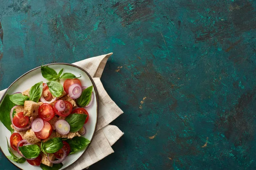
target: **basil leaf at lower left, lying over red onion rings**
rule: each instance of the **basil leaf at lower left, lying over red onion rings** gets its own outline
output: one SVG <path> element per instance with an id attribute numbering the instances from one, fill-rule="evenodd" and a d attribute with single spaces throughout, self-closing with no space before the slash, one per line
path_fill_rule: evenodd
<path id="1" fill-rule="evenodd" d="M 41 150 L 36 144 L 30 144 L 26 146 L 19 147 L 20 152 L 26 159 L 34 159 L 39 156 Z"/>

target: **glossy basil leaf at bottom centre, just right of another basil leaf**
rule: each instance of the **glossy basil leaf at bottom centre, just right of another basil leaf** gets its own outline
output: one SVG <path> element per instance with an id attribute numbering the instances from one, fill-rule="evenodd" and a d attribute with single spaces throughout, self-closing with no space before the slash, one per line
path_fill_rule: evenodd
<path id="1" fill-rule="evenodd" d="M 55 153 L 63 147 L 61 138 L 52 138 L 47 142 L 41 143 L 41 149 L 44 153 Z"/>

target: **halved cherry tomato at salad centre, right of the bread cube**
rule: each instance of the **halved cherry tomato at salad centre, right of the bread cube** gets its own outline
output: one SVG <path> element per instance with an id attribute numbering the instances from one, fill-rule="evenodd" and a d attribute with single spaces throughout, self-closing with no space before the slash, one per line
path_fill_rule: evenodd
<path id="1" fill-rule="evenodd" d="M 55 116 L 54 108 L 48 103 L 44 103 L 38 108 L 38 116 L 44 121 L 49 121 Z"/>

